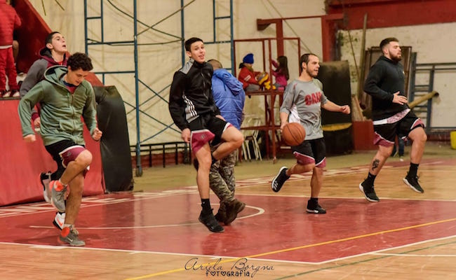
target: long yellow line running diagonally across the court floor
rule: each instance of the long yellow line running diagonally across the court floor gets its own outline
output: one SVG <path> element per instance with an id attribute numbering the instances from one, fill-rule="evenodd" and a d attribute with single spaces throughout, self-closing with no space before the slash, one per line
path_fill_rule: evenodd
<path id="1" fill-rule="evenodd" d="M 257 257 L 262 257 L 264 255 L 274 255 L 275 253 L 284 253 L 284 252 L 289 252 L 289 251 L 300 250 L 300 249 L 303 249 L 303 248 L 311 248 L 311 247 L 316 247 L 316 246 L 334 244 L 334 243 L 339 243 L 339 242 L 343 242 L 343 241 L 361 239 L 361 238 L 364 238 L 364 237 L 371 237 L 371 236 L 375 236 L 375 235 L 383 235 L 385 233 L 390 233 L 390 232 L 400 232 L 402 230 L 411 230 L 413 228 L 422 228 L 422 227 L 426 227 L 428 225 L 436 225 L 436 224 L 439 224 L 439 223 L 448 223 L 448 222 L 452 222 L 452 221 L 456 221 L 456 218 L 450 218 L 450 219 L 447 219 L 447 220 L 435 221 L 435 222 L 430 222 L 430 223 L 423 223 L 423 224 L 420 224 L 420 225 L 410 225 L 408 227 L 395 228 L 393 230 L 383 230 L 381 232 L 368 233 L 367 235 L 358 235 L 358 236 L 354 236 L 354 237 L 347 237 L 347 238 L 342 238 L 342 239 L 324 241 L 324 242 L 320 242 L 320 243 L 316 243 L 316 244 L 309 244 L 309 245 L 297 246 L 297 247 L 287 248 L 287 249 L 282 249 L 282 250 L 269 251 L 269 252 L 266 252 L 266 253 L 259 253 L 259 254 L 256 254 L 256 255 L 248 255 L 246 257 L 241 257 L 241 258 L 257 258 Z M 222 261 L 217 260 L 217 263 L 220 264 L 220 263 L 226 263 L 226 262 L 233 262 L 234 260 L 239 260 L 239 258 L 222 260 Z M 274 261 L 274 260 L 271 260 L 271 261 Z M 214 263 L 215 262 L 209 262 L 207 265 L 210 266 L 210 265 L 213 265 Z M 147 275 L 144 275 L 144 276 L 128 278 L 126 280 L 147 279 L 147 278 L 151 278 L 151 277 L 154 277 L 154 276 L 159 276 L 159 275 L 163 275 L 163 274 L 170 274 L 170 273 L 174 273 L 174 272 L 181 272 L 181 271 L 185 271 L 185 270 L 186 270 L 185 268 L 177 268 L 177 269 L 172 269 L 172 270 L 166 270 L 166 271 L 163 271 L 163 272 L 147 274 Z"/>

